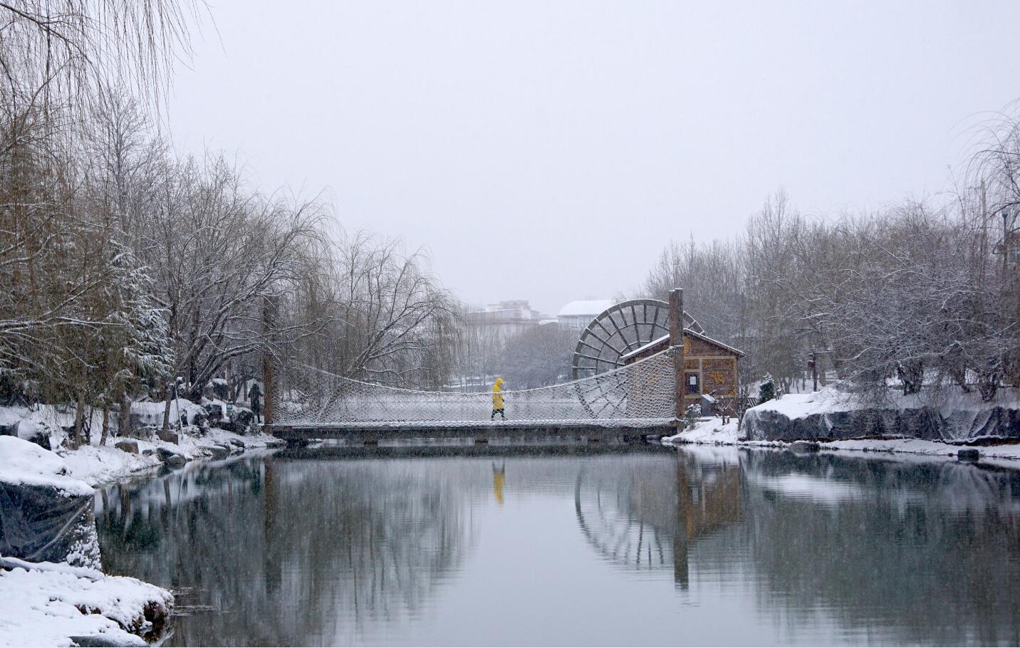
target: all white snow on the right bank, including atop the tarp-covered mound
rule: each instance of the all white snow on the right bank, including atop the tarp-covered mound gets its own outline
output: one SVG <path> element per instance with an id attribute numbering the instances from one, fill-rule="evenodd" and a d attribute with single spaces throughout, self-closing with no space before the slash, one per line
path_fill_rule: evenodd
<path id="1" fill-rule="evenodd" d="M 957 403 L 959 405 L 959 403 Z M 778 411 L 790 419 L 814 413 L 846 409 L 846 398 L 833 390 L 823 390 L 808 394 L 786 394 L 781 399 L 757 406 L 761 409 Z M 782 441 L 753 441 L 745 438 L 736 429 L 736 419 L 729 418 L 723 425 L 722 418 L 706 417 L 698 421 L 692 430 L 664 437 L 663 443 L 693 443 L 707 445 L 736 445 L 749 447 L 785 448 L 790 444 Z M 838 452 L 898 452 L 931 457 L 957 456 L 963 446 L 924 439 L 848 439 L 820 443 L 821 451 Z M 1020 444 L 1000 444 L 977 448 L 981 460 L 1011 467 L 1020 467 Z"/>

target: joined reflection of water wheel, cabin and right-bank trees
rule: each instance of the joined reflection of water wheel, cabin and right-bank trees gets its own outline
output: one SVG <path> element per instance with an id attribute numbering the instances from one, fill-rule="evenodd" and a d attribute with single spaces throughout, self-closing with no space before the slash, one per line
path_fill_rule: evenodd
<path id="1" fill-rule="evenodd" d="M 578 473 L 577 521 L 603 556 L 672 567 L 684 590 L 752 585 L 758 613 L 830 615 L 852 643 L 1020 644 L 1020 472 L 706 448 L 672 469 Z"/>

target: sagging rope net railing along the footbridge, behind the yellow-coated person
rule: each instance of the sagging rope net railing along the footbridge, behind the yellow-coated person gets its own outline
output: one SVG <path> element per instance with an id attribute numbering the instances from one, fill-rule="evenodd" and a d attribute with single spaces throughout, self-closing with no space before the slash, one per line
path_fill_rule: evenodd
<path id="1" fill-rule="evenodd" d="M 508 423 L 642 427 L 675 415 L 673 351 L 591 378 L 502 392 Z M 365 383 L 299 365 L 282 371 L 273 423 L 293 428 L 467 427 L 492 420 L 493 394 Z M 496 414 L 496 422 L 502 417 Z"/>

